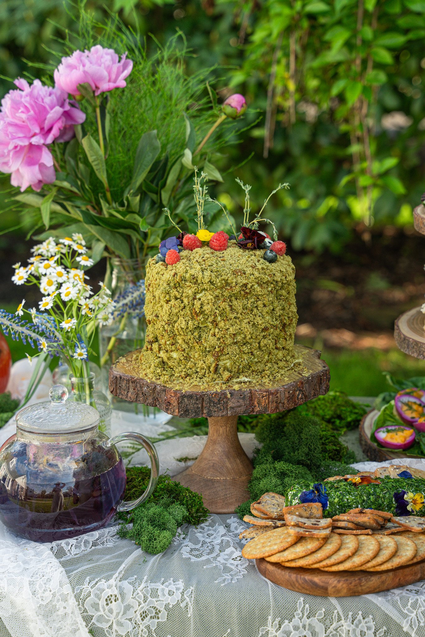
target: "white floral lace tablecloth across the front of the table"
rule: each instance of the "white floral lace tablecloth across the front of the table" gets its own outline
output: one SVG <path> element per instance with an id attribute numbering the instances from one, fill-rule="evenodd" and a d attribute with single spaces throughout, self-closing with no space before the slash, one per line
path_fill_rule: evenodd
<path id="1" fill-rule="evenodd" d="M 424 636 L 425 581 L 352 598 L 300 596 L 241 557 L 246 526 L 210 515 L 148 555 L 116 526 L 37 544 L 0 524 L 0 637 Z"/>

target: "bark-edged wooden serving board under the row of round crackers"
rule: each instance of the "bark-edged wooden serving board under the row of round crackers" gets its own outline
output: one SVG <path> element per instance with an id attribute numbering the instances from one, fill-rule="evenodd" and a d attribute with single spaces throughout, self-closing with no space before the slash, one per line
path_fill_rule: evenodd
<path id="1" fill-rule="evenodd" d="M 326 573 L 318 568 L 289 568 L 256 559 L 259 572 L 267 580 L 306 595 L 321 597 L 352 597 L 396 589 L 425 578 L 425 560 L 411 566 L 399 566 L 392 571 L 340 571 Z"/>

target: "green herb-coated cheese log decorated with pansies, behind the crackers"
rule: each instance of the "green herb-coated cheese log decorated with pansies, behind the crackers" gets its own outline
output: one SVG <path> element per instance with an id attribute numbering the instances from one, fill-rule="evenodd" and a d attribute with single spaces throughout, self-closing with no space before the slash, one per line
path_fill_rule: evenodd
<path id="1" fill-rule="evenodd" d="M 285 494 L 287 506 L 321 501 L 323 516 L 333 517 L 359 506 L 394 515 L 425 515 L 425 480 L 380 478 L 380 484 L 358 484 L 345 480 L 299 482 Z M 326 506 L 325 506 L 326 505 Z"/>

